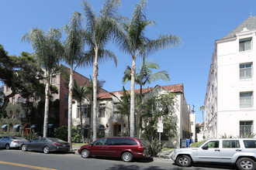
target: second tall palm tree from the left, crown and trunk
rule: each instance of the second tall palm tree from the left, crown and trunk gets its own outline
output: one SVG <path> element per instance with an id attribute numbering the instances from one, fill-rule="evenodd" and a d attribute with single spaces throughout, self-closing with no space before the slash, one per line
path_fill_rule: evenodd
<path id="1" fill-rule="evenodd" d="M 64 62 L 70 67 L 70 78 L 68 84 L 67 141 L 71 144 L 74 70 L 76 70 L 78 66 L 90 64 L 90 60 L 85 55 L 85 29 L 82 28 L 82 18 L 80 13 L 73 13 L 69 25 L 64 26 L 64 32 L 67 34 L 64 41 Z"/>

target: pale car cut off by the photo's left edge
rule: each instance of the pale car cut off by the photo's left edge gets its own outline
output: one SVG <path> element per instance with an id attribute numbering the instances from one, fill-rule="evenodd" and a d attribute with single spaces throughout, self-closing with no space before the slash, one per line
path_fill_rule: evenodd
<path id="1" fill-rule="evenodd" d="M 15 136 L 3 136 L 0 138 L 0 148 L 19 148 L 23 142 L 26 142 L 25 138 Z"/>

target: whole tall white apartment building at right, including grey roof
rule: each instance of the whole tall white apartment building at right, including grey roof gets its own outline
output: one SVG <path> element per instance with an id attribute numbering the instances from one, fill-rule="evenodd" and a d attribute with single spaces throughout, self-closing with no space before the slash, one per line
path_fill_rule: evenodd
<path id="1" fill-rule="evenodd" d="M 205 97 L 207 138 L 256 132 L 256 16 L 215 42 Z"/>

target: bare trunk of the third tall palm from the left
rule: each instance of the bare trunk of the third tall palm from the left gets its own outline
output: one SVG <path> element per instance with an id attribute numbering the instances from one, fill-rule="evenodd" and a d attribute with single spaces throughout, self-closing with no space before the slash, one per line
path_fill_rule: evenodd
<path id="1" fill-rule="evenodd" d="M 95 60 L 93 64 L 93 122 L 92 122 L 92 131 L 93 137 L 92 140 L 95 141 L 97 138 L 97 76 L 98 76 L 98 48 L 95 48 Z"/>

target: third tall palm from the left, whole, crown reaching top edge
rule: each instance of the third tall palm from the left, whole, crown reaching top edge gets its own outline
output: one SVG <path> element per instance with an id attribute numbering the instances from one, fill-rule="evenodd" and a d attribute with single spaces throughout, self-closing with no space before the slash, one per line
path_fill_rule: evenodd
<path id="1" fill-rule="evenodd" d="M 113 22 L 116 21 L 119 0 L 106 0 L 99 17 L 95 16 L 92 6 L 83 1 L 82 6 L 86 17 L 85 42 L 88 45 L 88 55 L 94 56 L 93 63 L 93 140 L 96 140 L 96 102 L 97 102 L 97 76 L 99 59 L 117 59 L 112 51 L 105 49 L 107 42 L 112 37 Z"/>

